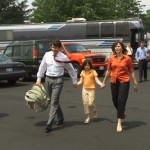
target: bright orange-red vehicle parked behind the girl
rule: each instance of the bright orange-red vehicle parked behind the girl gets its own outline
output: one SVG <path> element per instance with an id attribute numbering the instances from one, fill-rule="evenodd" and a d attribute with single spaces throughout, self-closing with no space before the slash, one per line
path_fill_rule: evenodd
<path id="1" fill-rule="evenodd" d="M 91 60 L 93 69 L 97 71 L 99 75 L 105 73 L 107 62 L 106 56 L 87 50 L 82 44 L 74 42 L 62 42 L 62 50 L 64 54 L 68 56 L 72 62 L 77 75 L 80 75 L 82 62 L 88 58 Z"/>

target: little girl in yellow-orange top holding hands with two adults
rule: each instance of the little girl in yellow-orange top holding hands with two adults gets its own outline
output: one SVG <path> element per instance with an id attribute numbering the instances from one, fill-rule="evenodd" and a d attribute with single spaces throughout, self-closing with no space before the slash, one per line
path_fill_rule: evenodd
<path id="1" fill-rule="evenodd" d="M 97 109 L 94 103 L 95 100 L 95 81 L 100 87 L 102 87 L 103 83 L 98 79 L 98 74 L 95 70 L 92 69 L 92 63 L 89 59 L 85 59 L 82 64 L 82 71 L 80 74 L 80 80 L 77 83 L 77 86 L 83 84 L 82 89 L 82 101 L 84 106 L 84 114 L 86 115 L 86 119 L 84 121 L 85 124 L 89 124 L 90 119 L 90 111 L 93 111 L 94 118 L 97 118 Z"/>

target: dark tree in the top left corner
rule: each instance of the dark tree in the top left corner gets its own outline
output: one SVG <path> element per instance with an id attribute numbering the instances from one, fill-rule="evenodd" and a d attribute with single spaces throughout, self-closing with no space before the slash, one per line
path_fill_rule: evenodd
<path id="1" fill-rule="evenodd" d="M 21 3 L 18 0 L 5 0 L 0 2 L 0 24 L 24 23 L 31 10 L 25 10 L 27 0 Z"/>

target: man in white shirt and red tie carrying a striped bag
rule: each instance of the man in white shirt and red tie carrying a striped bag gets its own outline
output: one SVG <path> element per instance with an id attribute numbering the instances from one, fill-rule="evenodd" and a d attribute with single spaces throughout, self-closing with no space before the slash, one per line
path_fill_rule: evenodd
<path id="1" fill-rule="evenodd" d="M 45 132 L 52 130 L 54 119 L 56 118 L 56 125 L 62 125 L 64 122 L 63 112 L 59 105 L 59 97 L 63 87 L 64 69 L 67 69 L 72 78 L 73 86 L 77 85 L 77 74 L 70 63 L 68 57 L 60 52 L 61 42 L 55 39 L 51 43 L 51 51 L 46 52 L 40 64 L 37 73 L 37 85 L 41 84 L 41 78 L 46 74 L 46 90 L 48 98 L 50 98 L 50 112 L 49 119 L 46 125 Z"/>

